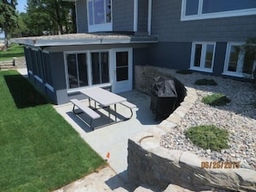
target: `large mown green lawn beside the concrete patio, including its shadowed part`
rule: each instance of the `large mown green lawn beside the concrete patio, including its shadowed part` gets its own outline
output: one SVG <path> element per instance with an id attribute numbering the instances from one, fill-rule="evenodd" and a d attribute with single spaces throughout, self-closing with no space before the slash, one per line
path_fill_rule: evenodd
<path id="1" fill-rule="evenodd" d="M 0 88 L 2 192 L 51 191 L 105 165 L 17 71 L 0 71 Z"/>

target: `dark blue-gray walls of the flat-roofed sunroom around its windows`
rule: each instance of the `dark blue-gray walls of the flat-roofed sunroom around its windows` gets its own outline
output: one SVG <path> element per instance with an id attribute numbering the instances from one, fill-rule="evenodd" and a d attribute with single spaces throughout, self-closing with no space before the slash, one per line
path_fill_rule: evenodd
<path id="1" fill-rule="evenodd" d="M 25 56 L 27 59 L 27 66 L 28 66 L 28 78 L 32 84 L 34 84 L 37 89 L 41 90 L 48 99 L 55 103 L 55 104 L 63 104 L 69 102 L 72 98 L 79 98 L 84 99 L 85 97 L 79 92 L 70 92 L 67 89 L 67 79 L 66 79 L 66 65 L 65 65 L 65 53 L 90 53 L 91 51 L 94 52 L 95 50 L 100 51 L 103 50 L 104 52 L 109 52 L 109 55 L 112 55 L 112 50 L 118 50 L 120 48 L 131 48 L 133 47 L 133 55 L 136 56 L 133 58 L 132 62 L 138 65 L 143 63 L 147 65 L 147 44 L 116 44 L 116 45 L 84 45 L 84 46 L 48 46 L 45 47 L 45 53 L 49 54 L 48 66 L 50 75 L 52 77 L 52 89 L 49 89 L 49 85 L 47 85 L 47 77 L 46 77 L 46 69 L 43 66 L 43 61 L 41 58 L 38 58 L 36 63 L 39 63 L 42 68 L 42 75 L 41 80 L 35 75 L 35 68 L 39 65 L 35 64 L 34 61 L 31 59 L 31 55 L 34 53 L 42 53 L 39 47 L 28 47 L 25 48 Z M 34 53 L 33 53 L 34 52 Z M 109 56 L 112 57 L 112 56 Z M 40 61 L 40 62 L 39 62 Z M 113 69 L 113 63 L 109 62 L 109 69 Z M 110 73 L 109 73 L 110 74 Z"/>

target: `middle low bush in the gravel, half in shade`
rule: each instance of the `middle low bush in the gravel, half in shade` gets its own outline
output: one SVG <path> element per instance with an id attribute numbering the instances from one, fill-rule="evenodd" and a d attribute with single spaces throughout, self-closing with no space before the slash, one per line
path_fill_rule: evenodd
<path id="1" fill-rule="evenodd" d="M 212 106 L 223 106 L 231 102 L 227 96 L 224 96 L 222 93 L 215 93 L 209 96 L 204 96 L 202 102 Z"/>

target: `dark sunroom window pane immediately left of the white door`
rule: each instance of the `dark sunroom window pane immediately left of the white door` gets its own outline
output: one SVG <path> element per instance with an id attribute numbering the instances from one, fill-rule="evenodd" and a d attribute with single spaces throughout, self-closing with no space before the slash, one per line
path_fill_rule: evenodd
<path id="1" fill-rule="evenodd" d="M 109 53 L 91 53 L 92 84 L 109 83 Z"/>

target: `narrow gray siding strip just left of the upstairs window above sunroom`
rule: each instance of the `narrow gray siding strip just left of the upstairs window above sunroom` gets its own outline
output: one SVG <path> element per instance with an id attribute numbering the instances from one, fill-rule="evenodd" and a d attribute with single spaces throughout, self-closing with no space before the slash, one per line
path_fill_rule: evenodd
<path id="1" fill-rule="evenodd" d="M 88 33 L 87 6 L 86 0 L 76 2 L 77 11 L 77 31 L 79 33 Z"/>

